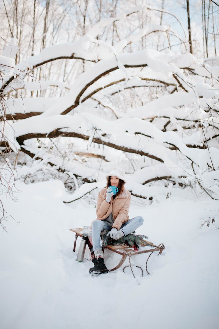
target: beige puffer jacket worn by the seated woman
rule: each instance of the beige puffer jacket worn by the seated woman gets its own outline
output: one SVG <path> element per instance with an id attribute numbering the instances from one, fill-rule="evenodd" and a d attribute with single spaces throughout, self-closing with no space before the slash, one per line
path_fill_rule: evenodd
<path id="1" fill-rule="evenodd" d="M 99 191 L 97 199 L 97 219 L 106 219 L 113 213 L 114 223 L 112 227 L 120 229 L 122 224 L 129 220 L 128 211 L 131 202 L 131 193 L 123 188 L 122 192 L 113 199 L 110 203 L 106 202 L 106 188 Z"/>

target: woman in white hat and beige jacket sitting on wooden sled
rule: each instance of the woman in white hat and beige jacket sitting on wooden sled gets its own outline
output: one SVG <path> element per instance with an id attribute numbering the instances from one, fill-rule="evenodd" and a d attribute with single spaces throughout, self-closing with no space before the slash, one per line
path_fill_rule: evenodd
<path id="1" fill-rule="evenodd" d="M 131 193 L 124 188 L 124 171 L 120 168 L 113 169 L 106 176 L 107 186 L 100 190 L 97 199 L 97 219 L 91 224 L 92 243 L 95 258 L 92 259 L 94 267 L 89 272 L 92 275 L 107 273 L 108 269 L 104 264 L 103 251 L 100 246 L 100 233 L 109 231 L 108 236 L 118 240 L 123 236 L 135 231 L 143 224 L 141 216 L 129 219 L 128 211 L 131 202 Z M 116 194 L 109 186 L 115 186 L 119 190 Z"/>

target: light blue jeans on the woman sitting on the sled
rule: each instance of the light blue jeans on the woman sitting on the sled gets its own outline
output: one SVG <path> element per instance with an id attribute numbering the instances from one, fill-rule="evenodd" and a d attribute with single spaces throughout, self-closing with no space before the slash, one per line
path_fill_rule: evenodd
<path id="1" fill-rule="evenodd" d="M 135 231 L 139 226 L 143 224 L 143 218 L 141 216 L 136 216 L 132 219 L 129 219 L 127 222 L 122 224 L 120 230 L 127 235 Z M 93 249 L 101 249 L 100 246 L 100 233 L 104 230 L 110 231 L 111 227 L 105 222 L 105 220 L 95 220 L 92 223 L 92 244 Z"/>

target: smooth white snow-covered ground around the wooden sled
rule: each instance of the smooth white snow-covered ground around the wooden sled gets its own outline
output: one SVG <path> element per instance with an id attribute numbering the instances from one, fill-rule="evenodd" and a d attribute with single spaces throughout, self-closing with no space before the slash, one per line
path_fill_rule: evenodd
<path id="1" fill-rule="evenodd" d="M 143 268 L 143 277 L 138 268 L 136 279 L 129 268 L 123 273 L 123 266 L 92 277 L 92 262 L 76 261 L 69 228 L 89 225 L 96 218 L 94 204 L 82 199 L 64 204 L 59 181 L 16 187 L 17 202 L 3 199 L 16 220 L 8 217 L 7 232 L 0 229 L 1 329 L 218 328 L 217 215 L 215 226 L 199 229 L 218 214 L 218 201 L 178 189 L 160 203 L 133 199 L 130 217 L 144 217 L 136 233 L 164 243 L 165 250 L 149 258 L 150 275 L 143 254 L 131 259 Z M 89 259 L 88 250 L 85 256 Z M 119 258 L 105 251 L 107 266 Z"/>

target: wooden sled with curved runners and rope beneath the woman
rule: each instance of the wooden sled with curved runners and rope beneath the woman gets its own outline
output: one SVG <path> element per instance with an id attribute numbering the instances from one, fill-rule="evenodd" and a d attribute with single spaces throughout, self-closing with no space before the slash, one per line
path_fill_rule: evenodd
<path id="1" fill-rule="evenodd" d="M 83 235 L 82 235 L 83 228 L 71 228 L 70 231 L 75 233 L 75 241 L 74 241 L 74 247 L 73 247 L 73 251 L 75 252 L 77 238 L 83 237 Z M 117 254 L 120 254 L 122 256 L 119 264 L 117 266 L 115 266 L 114 268 L 109 269 L 109 272 L 112 272 L 112 271 L 115 271 L 116 269 L 118 269 L 124 263 L 127 256 L 129 257 L 129 264 L 131 267 L 131 263 L 130 263 L 131 256 L 138 255 L 138 254 L 144 254 L 144 253 L 150 253 L 150 255 L 151 255 L 155 251 L 159 251 L 158 255 L 161 255 L 162 251 L 165 248 L 163 243 L 161 243 L 159 245 L 155 245 L 155 244 L 153 244 L 153 242 L 150 242 L 150 241 L 146 241 L 146 242 L 147 242 L 147 248 L 145 248 L 145 244 L 141 244 L 141 248 L 139 248 L 139 250 L 134 250 L 133 247 L 127 246 L 125 244 L 106 245 L 104 248 L 106 248 L 112 252 L 115 252 Z M 150 246 L 151 248 L 148 249 L 148 246 Z M 85 248 L 84 248 L 84 252 L 85 252 Z M 84 252 L 83 252 L 82 258 L 84 257 Z M 150 255 L 148 256 L 148 258 L 150 257 Z M 138 267 L 140 267 L 140 266 L 138 266 Z M 124 268 L 123 268 L 123 270 L 124 270 Z M 147 271 L 147 262 L 146 262 L 146 271 Z M 150 274 L 148 271 L 147 271 L 147 273 Z M 143 275 L 143 270 L 142 270 L 142 275 Z"/>

